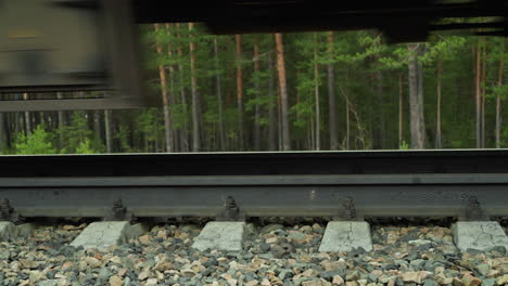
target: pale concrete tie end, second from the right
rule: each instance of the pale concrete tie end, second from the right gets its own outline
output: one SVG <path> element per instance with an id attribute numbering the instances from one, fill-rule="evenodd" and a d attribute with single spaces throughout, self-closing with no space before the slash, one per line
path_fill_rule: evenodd
<path id="1" fill-rule="evenodd" d="M 330 221 L 322 236 L 320 252 L 372 250 L 370 226 L 365 221 Z"/>

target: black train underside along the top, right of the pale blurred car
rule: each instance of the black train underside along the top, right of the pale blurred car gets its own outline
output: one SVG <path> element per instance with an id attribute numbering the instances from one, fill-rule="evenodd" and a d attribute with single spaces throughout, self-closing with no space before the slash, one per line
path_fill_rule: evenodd
<path id="1" fill-rule="evenodd" d="M 214 34 L 379 29 L 392 42 L 423 41 L 434 30 L 507 36 L 504 0 L 213 1 L 195 5 L 135 0 L 138 23 L 204 22 Z M 493 21 L 493 17 L 496 18 Z M 443 18 L 478 18 L 446 24 Z"/>

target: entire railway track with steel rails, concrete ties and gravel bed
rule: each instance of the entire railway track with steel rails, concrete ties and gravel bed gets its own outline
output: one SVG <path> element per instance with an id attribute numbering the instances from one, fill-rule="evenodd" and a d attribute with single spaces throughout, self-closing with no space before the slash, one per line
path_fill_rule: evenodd
<path id="1" fill-rule="evenodd" d="M 0 222 L 11 235 L 0 243 L 0 284 L 507 285 L 506 220 L 493 219 L 508 217 L 507 157 L 507 151 L 3 156 L 2 219 L 33 223 Z M 87 219 L 34 223 L 41 217 Z M 90 217 L 123 221 L 88 224 Z M 128 221 L 142 217 L 212 219 Z M 363 220 L 369 217 L 376 219 Z M 459 221 L 385 225 L 379 217 Z"/>

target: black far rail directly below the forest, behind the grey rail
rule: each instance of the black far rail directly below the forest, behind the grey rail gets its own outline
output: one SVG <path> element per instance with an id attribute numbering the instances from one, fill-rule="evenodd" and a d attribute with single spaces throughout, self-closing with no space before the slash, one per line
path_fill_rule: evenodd
<path id="1" fill-rule="evenodd" d="M 508 173 L 508 150 L 0 156 L 0 177 Z"/>

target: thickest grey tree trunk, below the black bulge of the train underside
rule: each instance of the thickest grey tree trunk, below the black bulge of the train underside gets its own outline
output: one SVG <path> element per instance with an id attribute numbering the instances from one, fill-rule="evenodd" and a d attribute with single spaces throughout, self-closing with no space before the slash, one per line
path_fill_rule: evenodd
<path id="1" fill-rule="evenodd" d="M 411 130 L 411 148 L 426 148 L 426 123 L 423 116 L 422 67 L 418 60 L 422 43 L 408 44 L 409 49 L 409 119 Z"/>

